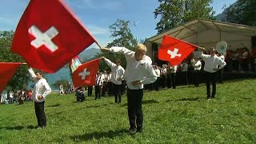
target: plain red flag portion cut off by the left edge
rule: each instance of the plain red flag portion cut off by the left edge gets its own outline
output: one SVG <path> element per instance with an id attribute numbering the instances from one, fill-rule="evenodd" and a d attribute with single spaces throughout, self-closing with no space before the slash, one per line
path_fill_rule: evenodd
<path id="1" fill-rule="evenodd" d="M 0 94 L 22 64 L 22 62 L 0 62 Z"/>

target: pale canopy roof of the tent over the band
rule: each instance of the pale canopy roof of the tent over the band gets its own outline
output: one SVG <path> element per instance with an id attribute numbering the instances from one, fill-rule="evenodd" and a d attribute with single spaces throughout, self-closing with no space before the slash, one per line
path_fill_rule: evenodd
<path id="1" fill-rule="evenodd" d="M 153 56 L 152 44 L 157 43 L 159 46 L 164 35 L 170 35 L 174 38 L 193 43 L 194 45 L 203 46 L 206 49 L 216 46 L 216 43 L 220 41 L 227 42 L 228 50 L 236 50 L 243 47 L 251 49 L 251 37 L 256 36 L 256 27 L 229 22 L 195 19 L 162 34 L 148 38 L 146 46 L 148 47 L 151 58 Z"/>

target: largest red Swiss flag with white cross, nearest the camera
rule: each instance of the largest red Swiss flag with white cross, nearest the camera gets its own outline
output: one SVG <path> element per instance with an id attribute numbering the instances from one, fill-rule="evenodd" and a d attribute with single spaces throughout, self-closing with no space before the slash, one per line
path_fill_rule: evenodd
<path id="1" fill-rule="evenodd" d="M 30 0 L 11 51 L 22 55 L 29 66 L 54 73 L 94 42 L 63 0 Z"/>

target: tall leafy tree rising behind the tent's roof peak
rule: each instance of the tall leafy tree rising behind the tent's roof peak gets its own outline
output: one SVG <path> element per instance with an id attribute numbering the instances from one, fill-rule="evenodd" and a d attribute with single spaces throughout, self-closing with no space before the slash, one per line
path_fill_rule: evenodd
<path id="1" fill-rule="evenodd" d="M 212 0 L 158 0 L 160 2 L 154 10 L 154 18 L 160 16 L 155 30 L 158 34 L 189 22 L 194 18 L 214 19 Z"/>

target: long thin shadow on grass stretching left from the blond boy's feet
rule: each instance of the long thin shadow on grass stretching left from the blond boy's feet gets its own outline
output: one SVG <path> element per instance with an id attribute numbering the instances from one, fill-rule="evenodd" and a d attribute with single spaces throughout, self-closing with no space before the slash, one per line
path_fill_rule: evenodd
<path id="1" fill-rule="evenodd" d="M 74 142 L 82 142 L 82 141 L 89 141 L 92 139 L 100 139 L 100 138 L 114 138 L 124 134 L 128 134 L 128 130 L 109 130 L 106 132 L 93 132 L 90 134 L 82 134 L 82 135 L 75 135 L 71 136 L 70 138 L 73 139 Z"/>

